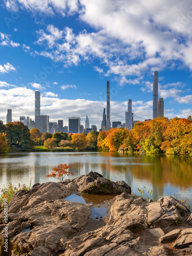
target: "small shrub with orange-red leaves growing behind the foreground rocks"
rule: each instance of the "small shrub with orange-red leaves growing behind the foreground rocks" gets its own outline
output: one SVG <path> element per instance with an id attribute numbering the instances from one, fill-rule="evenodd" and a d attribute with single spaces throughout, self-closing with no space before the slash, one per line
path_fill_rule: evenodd
<path id="1" fill-rule="evenodd" d="M 72 172 L 69 170 L 70 165 L 65 164 L 59 164 L 56 168 L 52 168 L 53 172 L 46 175 L 47 178 L 55 178 L 57 180 L 63 181 L 63 179 L 69 175 L 74 175 Z"/>

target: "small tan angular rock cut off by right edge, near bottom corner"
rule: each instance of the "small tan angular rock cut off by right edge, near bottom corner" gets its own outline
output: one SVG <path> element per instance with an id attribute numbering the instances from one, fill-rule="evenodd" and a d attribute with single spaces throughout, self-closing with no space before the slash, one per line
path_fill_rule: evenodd
<path id="1" fill-rule="evenodd" d="M 192 228 L 185 228 L 181 231 L 179 238 L 173 244 L 175 248 L 186 248 L 192 245 Z"/>

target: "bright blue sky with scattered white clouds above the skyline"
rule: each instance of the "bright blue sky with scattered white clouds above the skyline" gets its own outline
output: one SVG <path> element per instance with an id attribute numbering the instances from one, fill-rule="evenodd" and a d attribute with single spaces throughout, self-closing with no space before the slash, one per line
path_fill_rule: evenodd
<path id="1" fill-rule="evenodd" d="M 192 0 L 3 0 L 0 119 L 34 120 L 35 91 L 50 121 L 86 116 L 100 129 L 110 81 L 111 122 L 153 116 L 153 77 L 164 116 L 192 114 Z"/>

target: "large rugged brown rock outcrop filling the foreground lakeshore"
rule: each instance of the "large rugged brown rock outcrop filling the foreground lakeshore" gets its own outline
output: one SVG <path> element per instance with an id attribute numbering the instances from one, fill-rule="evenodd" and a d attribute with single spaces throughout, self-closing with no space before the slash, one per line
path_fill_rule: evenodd
<path id="1" fill-rule="evenodd" d="M 120 195 L 94 205 L 63 200 L 79 191 Z M 0 256 L 192 254 L 191 214 L 182 203 L 173 197 L 149 203 L 130 193 L 126 183 L 93 172 L 19 191 L 9 203 L 9 254 L 3 250 L 6 225 L 0 216 Z M 94 219 L 93 209 L 101 208 L 108 214 Z"/>

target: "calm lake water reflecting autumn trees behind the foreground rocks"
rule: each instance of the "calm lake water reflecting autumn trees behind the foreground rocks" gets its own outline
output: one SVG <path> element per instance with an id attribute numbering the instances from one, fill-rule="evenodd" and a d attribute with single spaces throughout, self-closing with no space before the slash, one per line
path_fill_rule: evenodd
<path id="1" fill-rule="evenodd" d="M 153 189 L 155 200 L 175 194 L 192 198 L 192 158 L 129 153 L 20 153 L 0 155 L 0 187 L 55 181 L 46 178 L 60 163 L 70 164 L 72 178 L 98 172 L 113 181 L 124 180 L 139 194 L 138 187 Z M 69 177 L 69 178 L 71 178 Z"/>

